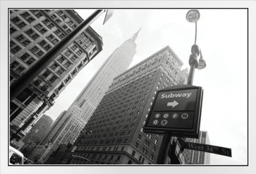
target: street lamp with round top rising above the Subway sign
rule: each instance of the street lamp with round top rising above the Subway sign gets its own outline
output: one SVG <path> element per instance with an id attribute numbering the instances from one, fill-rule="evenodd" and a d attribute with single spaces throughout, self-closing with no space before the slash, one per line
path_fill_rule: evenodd
<path id="1" fill-rule="evenodd" d="M 189 79 L 187 84 L 193 83 L 194 71 L 195 68 L 203 69 L 206 68 L 206 60 L 203 60 L 203 55 L 200 50 L 200 47 L 196 44 L 197 41 L 197 20 L 200 18 L 200 12 L 197 9 L 191 9 L 187 12 L 186 15 L 187 21 L 189 23 L 195 23 L 195 44 L 191 47 L 192 54 L 189 56 Z M 199 58 L 199 59 L 198 59 Z"/>

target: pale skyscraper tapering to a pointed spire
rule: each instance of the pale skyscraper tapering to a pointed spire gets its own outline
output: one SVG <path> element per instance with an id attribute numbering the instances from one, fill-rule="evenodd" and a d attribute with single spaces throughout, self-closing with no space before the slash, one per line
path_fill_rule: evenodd
<path id="1" fill-rule="evenodd" d="M 56 127 L 61 127 L 61 129 L 54 130 L 53 128 L 41 144 L 52 142 L 58 145 L 67 145 L 75 142 L 80 131 L 83 130 L 86 122 L 88 122 L 105 92 L 107 92 L 114 77 L 127 70 L 132 62 L 136 52 L 135 40 L 139 31 L 132 38 L 124 41 L 103 63 L 99 71 L 91 78 L 91 81 L 80 92 L 78 98 L 68 108 L 67 113 L 61 117 L 61 124 L 56 124 Z"/>

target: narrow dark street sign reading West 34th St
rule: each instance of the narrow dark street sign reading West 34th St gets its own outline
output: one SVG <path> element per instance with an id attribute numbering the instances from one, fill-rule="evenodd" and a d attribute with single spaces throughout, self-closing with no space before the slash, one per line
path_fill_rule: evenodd
<path id="1" fill-rule="evenodd" d="M 195 151 L 205 151 L 212 154 L 220 154 L 227 157 L 232 157 L 231 149 L 219 146 L 211 146 L 208 144 L 200 144 L 200 143 L 184 143 L 184 149 L 191 149 Z"/>

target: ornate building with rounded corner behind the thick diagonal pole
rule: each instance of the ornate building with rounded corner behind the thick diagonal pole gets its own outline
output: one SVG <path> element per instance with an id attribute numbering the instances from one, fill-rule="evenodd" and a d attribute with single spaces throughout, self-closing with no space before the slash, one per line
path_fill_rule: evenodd
<path id="1" fill-rule="evenodd" d="M 10 85 L 82 22 L 75 10 L 10 9 Z M 101 36 L 87 28 L 10 101 L 10 134 L 15 135 L 11 143 L 29 132 L 67 84 L 101 50 Z"/>

